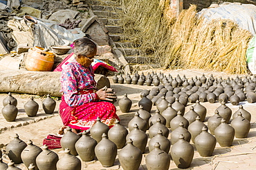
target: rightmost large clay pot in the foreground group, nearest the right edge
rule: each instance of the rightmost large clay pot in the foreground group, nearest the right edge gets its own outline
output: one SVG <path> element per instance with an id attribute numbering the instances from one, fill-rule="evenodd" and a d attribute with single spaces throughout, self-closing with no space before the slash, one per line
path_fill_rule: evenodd
<path id="1" fill-rule="evenodd" d="M 246 138 L 250 131 L 250 122 L 239 112 L 230 125 L 235 129 L 236 138 Z"/>

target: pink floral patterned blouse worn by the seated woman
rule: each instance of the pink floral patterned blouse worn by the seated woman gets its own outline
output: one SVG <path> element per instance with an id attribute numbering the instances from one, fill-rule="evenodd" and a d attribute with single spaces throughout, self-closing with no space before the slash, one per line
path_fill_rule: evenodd
<path id="1" fill-rule="evenodd" d="M 66 104 L 71 107 L 83 105 L 98 100 L 95 93 L 96 82 L 94 80 L 93 67 L 84 67 L 76 60 L 63 65 L 60 83 L 61 92 Z M 84 94 L 84 91 L 93 90 L 93 93 Z"/>

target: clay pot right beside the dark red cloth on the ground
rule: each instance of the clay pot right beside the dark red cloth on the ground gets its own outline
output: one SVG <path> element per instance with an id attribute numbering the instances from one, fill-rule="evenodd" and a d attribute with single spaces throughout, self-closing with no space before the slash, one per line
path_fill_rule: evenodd
<path id="1" fill-rule="evenodd" d="M 66 148 L 70 149 L 70 152 L 72 155 L 77 156 L 78 153 L 75 149 L 75 142 L 79 140 L 80 136 L 75 134 L 73 131 L 71 131 L 70 127 L 66 128 L 66 134 L 62 137 L 60 140 L 60 145 L 62 145 L 62 149 L 65 150 Z"/>

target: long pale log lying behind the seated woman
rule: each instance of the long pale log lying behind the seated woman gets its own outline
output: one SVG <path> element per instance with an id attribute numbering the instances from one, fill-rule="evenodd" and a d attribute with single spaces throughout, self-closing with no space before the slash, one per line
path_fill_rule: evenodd
<path id="1" fill-rule="evenodd" d="M 0 70 L 0 92 L 13 92 L 51 96 L 60 93 L 61 72 L 30 72 L 25 70 Z M 95 74 L 98 89 L 110 87 L 109 78 Z"/>

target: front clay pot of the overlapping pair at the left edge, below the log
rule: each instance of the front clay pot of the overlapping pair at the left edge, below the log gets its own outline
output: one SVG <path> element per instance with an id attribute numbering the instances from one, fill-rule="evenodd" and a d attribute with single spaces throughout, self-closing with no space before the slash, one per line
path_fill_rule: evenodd
<path id="1" fill-rule="evenodd" d="M 18 114 L 18 109 L 15 105 L 12 105 L 12 103 L 9 101 L 8 105 L 3 107 L 2 114 L 3 114 L 3 117 L 6 119 L 6 121 L 14 122 Z"/>

